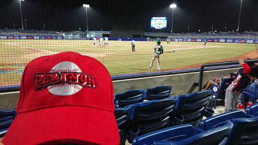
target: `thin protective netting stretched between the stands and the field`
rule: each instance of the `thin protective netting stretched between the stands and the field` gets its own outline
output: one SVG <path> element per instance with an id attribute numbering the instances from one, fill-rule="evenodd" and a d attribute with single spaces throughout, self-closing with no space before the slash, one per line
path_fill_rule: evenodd
<path id="1" fill-rule="evenodd" d="M 0 86 L 19 85 L 31 60 L 64 51 L 96 58 L 113 78 L 257 58 L 256 11 L 251 0 L 1 0 Z"/>

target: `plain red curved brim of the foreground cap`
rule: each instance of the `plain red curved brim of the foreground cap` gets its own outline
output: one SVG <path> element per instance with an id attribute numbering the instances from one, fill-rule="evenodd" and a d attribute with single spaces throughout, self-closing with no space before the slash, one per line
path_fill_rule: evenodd
<path id="1" fill-rule="evenodd" d="M 21 113 L 14 119 L 3 143 L 29 145 L 53 140 L 58 142 L 62 139 L 119 144 L 120 137 L 114 113 L 78 106 Z"/>

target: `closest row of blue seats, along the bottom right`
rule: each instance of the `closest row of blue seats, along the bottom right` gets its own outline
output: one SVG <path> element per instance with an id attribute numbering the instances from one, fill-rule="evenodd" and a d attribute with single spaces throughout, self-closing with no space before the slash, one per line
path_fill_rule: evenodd
<path id="1" fill-rule="evenodd" d="M 247 113 L 247 114 L 246 114 Z M 200 122 L 198 127 L 178 125 L 136 137 L 138 144 L 258 144 L 258 104 L 249 106 L 246 113 L 235 110 Z"/>

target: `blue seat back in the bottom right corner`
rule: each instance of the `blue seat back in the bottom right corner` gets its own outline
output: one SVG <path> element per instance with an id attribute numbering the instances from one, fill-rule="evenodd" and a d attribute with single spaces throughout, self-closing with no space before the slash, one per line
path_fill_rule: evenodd
<path id="1" fill-rule="evenodd" d="M 258 144 L 258 116 L 232 119 L 233 129 L 229 135 L 229 144 Z"/>

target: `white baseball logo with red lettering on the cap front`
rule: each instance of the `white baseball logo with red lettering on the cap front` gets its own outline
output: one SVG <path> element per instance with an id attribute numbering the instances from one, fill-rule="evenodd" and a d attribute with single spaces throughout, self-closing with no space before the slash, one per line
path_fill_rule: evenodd
<path id="1" fill-rule="evenodd" d="M 47 88 L 53 95 L 67 96 L 79 92 L 83 87 L 97 88 L 94 76 L 82 73 L 71 61 L 56 64 L 49 73 L 34 75 L 34 90 Z"/>

